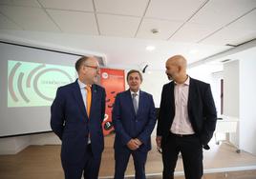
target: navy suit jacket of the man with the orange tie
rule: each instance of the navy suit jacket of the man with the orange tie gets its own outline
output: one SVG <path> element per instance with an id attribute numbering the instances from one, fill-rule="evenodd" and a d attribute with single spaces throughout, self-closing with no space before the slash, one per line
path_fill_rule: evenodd
<path id="1" fill-rule="evenodd" d="M 57 89 L 51 107 L 51 127 L 62 141 L 62 164 L 82 164 L 85 161 L 89 132 L 94 156 L 101 156 L 104 149 L 101 124 L 105 115 L 105 95 L 105 89 L 92 86 L 89 119 L 77 80 Z"/>

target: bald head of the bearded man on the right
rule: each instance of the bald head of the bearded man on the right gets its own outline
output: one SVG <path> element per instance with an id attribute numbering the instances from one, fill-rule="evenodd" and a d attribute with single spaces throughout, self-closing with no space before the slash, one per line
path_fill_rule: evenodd
<path id="1" fill-rule="evenodd" d="M 183 83 L 187 78 L 186 75 L 186 59 L 182 55 L 170 57 L 165 64 L 166 74 L 169 80 L 174 80 L 177 83 Z"/>

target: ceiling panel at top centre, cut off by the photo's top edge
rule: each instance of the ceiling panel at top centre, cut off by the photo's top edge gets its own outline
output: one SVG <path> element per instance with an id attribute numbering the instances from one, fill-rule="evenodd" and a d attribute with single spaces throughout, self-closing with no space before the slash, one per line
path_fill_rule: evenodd
<path id="1" fill-rule="evenodd" d="M 148 0 L 95 0 L 95 3 L 97 12 L 142 16 Z"/>

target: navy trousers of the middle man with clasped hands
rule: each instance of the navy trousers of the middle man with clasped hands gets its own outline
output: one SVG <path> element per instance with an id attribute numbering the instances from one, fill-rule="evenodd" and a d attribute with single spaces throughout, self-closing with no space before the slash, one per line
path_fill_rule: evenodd
<path id="1" fill-rule="evenodd" d="M 114 179 L 123 179 L 127 168 L 130 155 L 133 156 L 135 166 L 135 178 L 145 179 L 145 163 L 147 159 L 147 151 L 131 151 L 128 149 L 122 151 L 115 150 L 115 177 Z"/>

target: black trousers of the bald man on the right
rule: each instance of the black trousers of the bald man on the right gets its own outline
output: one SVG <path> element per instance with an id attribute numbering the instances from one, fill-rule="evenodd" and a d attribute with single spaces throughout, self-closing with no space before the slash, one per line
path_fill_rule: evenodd
<path id="1" fill-rule="evenodd" d="M 203 147 L 196 135 L 169 133 L 162 144 L 163 179 L 173 179 L 176 163 L 181 152 L 186 179 L 201 179 L 203 176 Z"/>

